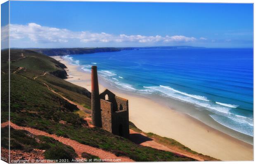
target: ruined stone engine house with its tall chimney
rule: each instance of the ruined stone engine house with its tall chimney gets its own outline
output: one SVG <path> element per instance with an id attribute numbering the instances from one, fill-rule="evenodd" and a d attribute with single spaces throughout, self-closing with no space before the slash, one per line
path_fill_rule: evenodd
<path id="1" fill-rule="evenodd" d="M 129 137 L 128 100 L 109 90 L 99 94 L 97 67 L 92 66 L 92 125 L 113 134 Z"/>

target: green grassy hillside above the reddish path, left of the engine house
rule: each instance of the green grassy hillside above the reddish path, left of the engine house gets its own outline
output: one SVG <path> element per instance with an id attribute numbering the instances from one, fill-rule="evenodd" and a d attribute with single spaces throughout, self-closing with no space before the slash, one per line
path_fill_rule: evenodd
<path id="1" fill-rule="evenodd" d="M 63 71 L 64 65 L 50 57 L 27 50 L 12 50 L 11 59 L 13 60 L 10 66 L 10 119 L 14 124 L 64 136 L 82 144 L 113 152 L 117 156 L 130 157 L 135 161 L 194 160 L 175 155 L 172 152 L 137 145 L 101 128 L 89 128 L 87 122 L 76 114 L 78 108 L 60 96 L 62 95 L 85 107 L 89 108 L 90 106 L 90 92 L 88 90 L 52 74 L 56 70 Z M 2 85 L 8 86 L 6 60 L 3 60 L 2 64 Z M 49 90 L 45 84 L 60 95 Z M 6 95 L 8 94 L 7 91 L 3 93 Z M 2 105 L 8 106 L 8 99 L 4 100 Z M 8 110 L 1 110 L 1 114 L 1 122 L 7 121 Z M 15 139 L 14 136 L 11 137 L 15 141 L 19 140 Z M 18 142 L 20 145 L 33 148 L 32 143 Z M 69 148 L 64 148 L 64 150 L 69 150 Z M 55 155 L 58 156 L 62 152 L 56 153 Z"/>

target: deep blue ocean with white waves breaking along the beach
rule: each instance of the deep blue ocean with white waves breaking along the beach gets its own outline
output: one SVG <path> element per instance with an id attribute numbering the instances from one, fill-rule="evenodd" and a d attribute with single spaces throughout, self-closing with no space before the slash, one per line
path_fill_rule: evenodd
<path id="1" fill-rule="evenodd" d="M 113 87 L 192 104 L 214 121 L 253 136 L 253 49 L 144 49 L 66 55 Z M 195 116 L 196 117 L 196 116 Z"/>

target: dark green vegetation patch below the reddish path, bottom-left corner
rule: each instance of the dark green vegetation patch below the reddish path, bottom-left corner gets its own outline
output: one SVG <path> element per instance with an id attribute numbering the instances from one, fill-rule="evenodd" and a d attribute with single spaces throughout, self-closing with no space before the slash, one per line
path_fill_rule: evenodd
<path id="1" fill-rule="evenodd" d="M 1 128 L 2 147 L 9 149 L 7 144 L 9 127 Z M 33 149 L 45 150 L 45 159 L 75 159 L 78 155 L 75 150 L 63 143 L 47 136 L 36 136 L 25 130 L 10 128 L 10 148 L 12 150 L 23 150 L 31 152 Z"/>

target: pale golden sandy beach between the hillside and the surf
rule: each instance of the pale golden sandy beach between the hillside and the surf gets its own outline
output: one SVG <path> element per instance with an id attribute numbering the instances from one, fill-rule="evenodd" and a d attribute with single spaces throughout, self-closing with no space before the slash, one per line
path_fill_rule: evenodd
<path id="1" fill-rule="evenodd" d="M 71 65 L 59 56 L 51 57 L 68 67 L 67 73 L 72 78 L 68 78 L 66 81 L 90 91 L 90 74 L 79 71 L 79 66 Z M 99 82 L 100 92 L 102 92 L 106 85 L 102 85 L 104 81 L 100 78 Z M 217 159 L 225 161 L 253 160 L 253 146 L 249 143 L 235 139 L 188 114 L 172 110 L 151 99 L 130 95 L 113 88 L 110 90 L 119 97 L 129 100 L 129 119 L 144 132 L 153 132 L 175 139 L 196 152 Z"/>

